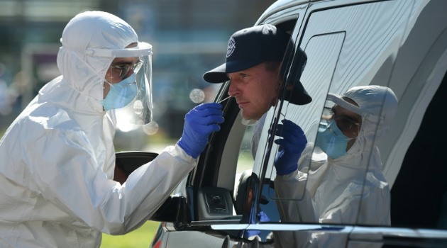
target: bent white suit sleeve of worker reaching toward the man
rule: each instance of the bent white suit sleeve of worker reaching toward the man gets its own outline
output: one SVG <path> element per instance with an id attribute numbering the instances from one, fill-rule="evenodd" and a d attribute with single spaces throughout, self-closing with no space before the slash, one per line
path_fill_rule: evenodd
<path id="1" fill-rule="evenodd" d="M 63 135 L 72 137 L 65 140 Z M 51 136 L 36 140 L 35 146 L 54 147 L 57 152 L 29 151 L 35 191 L 73 218 L 112 235 L 125 234 L 148 220 L 195 165 L 195 159 L 177 145 L 167 147 L 121 186 L 107 179 L 94 156 L 82 147 L 82 137 L 76 140 L 76 133 Z"/>

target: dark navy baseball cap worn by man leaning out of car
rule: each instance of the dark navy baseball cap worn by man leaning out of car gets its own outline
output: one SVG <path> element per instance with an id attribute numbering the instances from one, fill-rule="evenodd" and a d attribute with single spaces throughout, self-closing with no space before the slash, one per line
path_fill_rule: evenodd
<path id="1" fill-rule="evenodd" d="M 203 79 L 209 83 L 222 83 L 230 80 L 227 73 L 239 72 L 262 62 L 281 62 L 289 40 L 290 35 L 288 33 L 270 24 L 261 24 L 239 30 L 233 33 L 228 40 L 225 63 L 206 72 Z M 299 52 L 304 55 L 304 59 L 307 59 L 302 50 L 299 50 Z M 299 78 L 293 80 L 292 84 L 294 85 L 293 89 L 290 90 L 292 92 L 287 94 L 287 96 L 291 96 L 289 102 L 299 105 L 309 103 L 311 97 L 304 90 Z"/>

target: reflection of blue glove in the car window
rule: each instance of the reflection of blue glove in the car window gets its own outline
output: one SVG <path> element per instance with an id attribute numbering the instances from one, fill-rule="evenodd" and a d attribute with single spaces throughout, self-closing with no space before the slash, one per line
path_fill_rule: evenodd
<path id="1" fill-rule="evenodd" d="M 301 156 L 307 139 L 299 125 L 290 120 L 282 120 L 277 125 L 275 135 L 282 139 L 275 140 L 280 145 L 277 157 L 275 157 L 275 168 L 278 175 L 287 175 L 298 169 L 298 159 Z"/>

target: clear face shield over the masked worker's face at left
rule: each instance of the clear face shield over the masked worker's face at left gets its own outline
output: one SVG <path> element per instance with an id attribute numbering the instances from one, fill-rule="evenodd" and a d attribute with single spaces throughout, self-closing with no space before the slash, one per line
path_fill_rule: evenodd
<path id="1" fill-rule="evenodd" d="M 152 45 L 138 43 L 123 49 L 91 49 L 101 57 L 113 57 L 107 71 L 101 101 L 106 111 L 114 111 L 118 125 L 145 125 L 153 116 Z"/>

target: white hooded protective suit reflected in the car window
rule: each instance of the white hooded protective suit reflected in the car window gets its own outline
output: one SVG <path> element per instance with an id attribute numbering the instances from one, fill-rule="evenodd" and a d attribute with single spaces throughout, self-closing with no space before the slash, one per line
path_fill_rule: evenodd
<path id="1" fill-rule="evenodd" d="M 355 101 L 363 112 L 360 133 L 345 156 L 331 159 L 318 147 L 312 153 L 310 144 L 297 171 L 276 176 L 276 197 L 294 199 L 277 201 L 282 222 L 390 225 L 390 188 L 381 171 L 377 142 L 390 129 L 397 98 L 384 86 L 357 86 L 343 96 Z M 336 99 L 336 103 L 341 101 Z M 275 234 L 275 247 L 344 247 L 348 237 L 330 232 Z M 353 247 L 365 246 L 358 243 Z"/>

